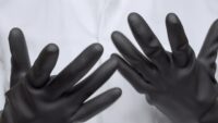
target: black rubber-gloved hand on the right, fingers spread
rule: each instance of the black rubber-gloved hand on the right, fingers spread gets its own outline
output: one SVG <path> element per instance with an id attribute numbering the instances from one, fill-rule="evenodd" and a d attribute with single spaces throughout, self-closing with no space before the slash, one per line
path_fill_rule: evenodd
<path id="1" fill-rule="evenodd" d="M 121 74 L 173 123 L 203 123 L 217 98 L 218 21 L 211 25 L 197 57 L 173 13 L 166 19 L 172 52 L 162 48 L 137 13 L 130 14 L 129 24 L 146 57 L 123 34 L 114 32 L 113 44 L 124 58 L 113 54 L 119 59 Z"/>

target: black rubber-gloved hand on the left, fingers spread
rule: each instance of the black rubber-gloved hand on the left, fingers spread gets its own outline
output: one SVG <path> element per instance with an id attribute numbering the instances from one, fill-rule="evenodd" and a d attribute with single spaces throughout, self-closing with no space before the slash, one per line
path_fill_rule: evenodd
<path id="1" fill-rule="evenodd" d="M 31 67 L 26 42 L 19 28 L 9 36 L 11 49 L 11 88 L 0 123 L 77 123 L 96 115 L 120 96 L 110 89 L 87 100 L 116 71 L 109 59 L 85 79 L 102 53 L 99 44 L 90 45 L 58 75 L 50 76 L 58 60 L 56 45 L 46 46 Z"/>

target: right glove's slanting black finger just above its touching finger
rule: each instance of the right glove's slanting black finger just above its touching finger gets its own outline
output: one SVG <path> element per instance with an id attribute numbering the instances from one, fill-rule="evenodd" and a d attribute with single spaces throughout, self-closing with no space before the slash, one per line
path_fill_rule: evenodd
<path id="1" fill-rule="evenodd" d="M 123 34 L 114 32 L 111 38 L 120 53 L 136 69 L 136 71 L 142 74 L 150 74 L 150 71 L 156 70 L 156 66 L 148 61 Z"/>

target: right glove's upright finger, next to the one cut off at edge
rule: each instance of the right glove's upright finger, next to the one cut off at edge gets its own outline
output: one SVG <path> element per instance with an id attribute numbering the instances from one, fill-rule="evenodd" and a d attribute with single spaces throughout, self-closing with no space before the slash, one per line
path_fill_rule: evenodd
<path id="1" fill-rule="evenodd" d="M 173 13 L 167 15 L 166 25 L 174 62 L 179 66 L 184 66 L 189 62 L 193 50 L 189 45 L 183 26 Z"/>

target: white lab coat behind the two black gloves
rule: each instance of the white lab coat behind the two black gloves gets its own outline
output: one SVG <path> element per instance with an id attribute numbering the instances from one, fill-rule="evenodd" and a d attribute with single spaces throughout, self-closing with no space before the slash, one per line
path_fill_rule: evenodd
<path id="1" fill-rule="evenodd" d="M 95 67 L 118 52 L 110 39 L 113 30 L 123 32 L 135 44 L 126 22 L 130 12 L 142 14 L 168 50 L 165 16 L 177 13 L 191 46 L 198 52 L 208 27 L 218 17 L 217 5 L 218 0 L 0 0 L 0 109 L 9 89 L 8 34 L 14 26 L 22 28 L 26 36 L 32 63 L 47 44 L 60 47 L 53 71 L 57 74 L 93 42 L 105 47 Z M 111 87 L 121 87 L 122 97 L 87 123 L 170 123 L 118 72 L 96 95 Z"/>

